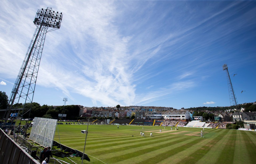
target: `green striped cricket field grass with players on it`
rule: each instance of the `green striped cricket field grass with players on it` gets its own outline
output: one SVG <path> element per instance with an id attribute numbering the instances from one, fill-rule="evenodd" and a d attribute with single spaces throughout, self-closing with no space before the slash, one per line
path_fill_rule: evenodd
<path id="1" fill-rule="evenodd" d="M 60 137 L 61 144 L 83 152 L 86 135 L 81 130 L 86 128 L 87 125 L 57 125 L 54 140 L 59 142 Z M 159 133 L 160 129 L 162 133 Z M 144 126 L 142 130 L 142 126 L 132 125 L 119 125 L 118 129 L 117 125 L 89 125 L 85 153 L 91 161 L 83 160 L 83 163 L 256 163 L 254 131 L 205 128 L 205 138 L 200 138 L 202 128 L 174 129 Z M 145 137 L 141 137 L 140 132 L 145 132 Z M 149 137 L 150 132 L 153 137 Z M 69 161 L 66 157 L 58 159 Z M 82 161 L 71 159 L 76 163 Z"/>

